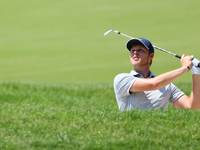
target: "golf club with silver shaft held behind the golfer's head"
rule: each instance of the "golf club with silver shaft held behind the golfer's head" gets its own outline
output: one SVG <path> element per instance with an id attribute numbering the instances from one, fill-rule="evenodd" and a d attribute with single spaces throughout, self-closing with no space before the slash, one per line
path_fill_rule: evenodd
<path id="1" fill-rule="evenodd" d="M 131 36 L 126 35 L 126 34 L 123 34 L 123 33 L 119 32 L 119 31 L 113 30 L 113 29 L 111 29 L 111 30 L 105 32 L 105 33 L 104 33 L 104 36 L 108 35 L 108 34 L 111 33 L 111 32 L 115 32 L 115 33 L 117 33 L 117 34 L 123 35 L 123 36 L 125 36 L 125 37 L 130 38 L 130 39 L 134 39 L 134 37 L 131 37 Z M 179 56 L 179 55 L 177 55 L 177 54 L 174 54 L 174 53 L 172 53 L 172 52 L 166 51 L 166 50 L 164 50 L 164 49 L 162 49 L 162 48 L 160 48 L 160 47 L 154 46 L 154 45 L 152 45 L 152 46 L 153 46 L 155 49 L 158 49 L 158 50 L 160 50 L 160 51 L 162 51 L 162 52 L 168 53 L 168 54 L 170 54 L 170 55 L 175 56 L 176 58 L 181 59 L 181 56 Z M 199 63 L 196 67 L 200 67 L 200 63 Z"/>

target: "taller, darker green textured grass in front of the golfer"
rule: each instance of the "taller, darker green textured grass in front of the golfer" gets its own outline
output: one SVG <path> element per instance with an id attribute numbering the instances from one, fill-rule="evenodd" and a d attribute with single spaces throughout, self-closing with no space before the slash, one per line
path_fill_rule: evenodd
<path id="1" fill-rule="evenodd" d="M 181 86 L 179 84 L 178 86 Z M 0 149 L 199 149 L 199 111 L 119 111 L 111 84 L 0 84 Z M 191 84 L 182 86 L 189 93 Z"/>

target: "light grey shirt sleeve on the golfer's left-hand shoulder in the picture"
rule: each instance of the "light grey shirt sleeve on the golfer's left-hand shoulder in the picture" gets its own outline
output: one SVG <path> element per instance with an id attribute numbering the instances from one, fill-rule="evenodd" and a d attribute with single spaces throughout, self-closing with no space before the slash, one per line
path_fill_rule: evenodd
<path id="1" fill-rule="evenodd" d="M 129 89 L 137 78 L 128 73 L 118 74 L 114 79 L 114 91 L 116 98 L 123 98 L 130 95 Z"/>

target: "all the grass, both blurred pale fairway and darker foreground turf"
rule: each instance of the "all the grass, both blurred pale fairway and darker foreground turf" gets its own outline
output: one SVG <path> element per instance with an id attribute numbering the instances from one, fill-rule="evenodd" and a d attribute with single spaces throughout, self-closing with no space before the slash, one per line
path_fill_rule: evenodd
<path id="1" fill-rule="evenodd" d="M 200 58 L 198 0 L 0 1 L 0 149 L 199 149 L 199 111 L 121 112 L 127 38 Z M 155 50 L 152 71 L 180 67 Z M 190 94 L 191 73 L 175 81 Z"/>

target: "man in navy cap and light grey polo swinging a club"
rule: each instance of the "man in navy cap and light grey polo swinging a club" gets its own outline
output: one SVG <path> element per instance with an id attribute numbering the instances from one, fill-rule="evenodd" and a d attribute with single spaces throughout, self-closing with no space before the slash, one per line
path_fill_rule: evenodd
<path id="1" fill-rule="evenodd" d="M 114 91 L 120 110 L 166 110 L 169 103 L 179 109 L 200 109 L 200 68 L 193 66 L 199 60 L 183 54 L 180 68 L 156 76 L 150 71 L 154 48 L 149 40 L 131 39 L 126 47 L 134 70 L 118 74 L 114 79 Z M 188 97 L 172 82 L 190 70 L 193 89 Z"/>

